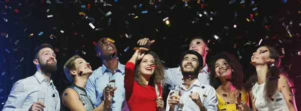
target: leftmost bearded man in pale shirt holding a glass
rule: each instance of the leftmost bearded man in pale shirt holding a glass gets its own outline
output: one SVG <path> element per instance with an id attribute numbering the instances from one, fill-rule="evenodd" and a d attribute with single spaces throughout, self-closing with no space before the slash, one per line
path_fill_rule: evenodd
<path id="1" fill-rule="evenodd" d="M 51 80 L 57 70 L 56 54 L 51 44 L 43 43 L 34 51 L 34 75 L 18 80 L 11 90 L 3 111 L 6 110 L 60 110 L 59 92 Z"/>

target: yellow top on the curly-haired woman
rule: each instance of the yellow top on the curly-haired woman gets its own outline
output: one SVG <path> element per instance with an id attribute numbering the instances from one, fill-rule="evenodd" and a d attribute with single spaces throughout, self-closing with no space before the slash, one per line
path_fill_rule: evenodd
<path id="1" fill-rule="evenodd" d="M 223 110 L 236 110 L 236 105 L 235 104 L 226 104 L 225 103 L 226 101 L 224 101 L 219 96 L 219 94 L 217 92 L 216 92 L 216 95 L 217 95 L 217 99 L 218 99 L 218 104 L 217 104 L 218 111 L 221 110 L 221 109 L 223 109 Z M 243 100 L 243 102 L 245 102 L 249 105 L 249 95 L 244 90 L 242 90 L 241 99 Z"/>

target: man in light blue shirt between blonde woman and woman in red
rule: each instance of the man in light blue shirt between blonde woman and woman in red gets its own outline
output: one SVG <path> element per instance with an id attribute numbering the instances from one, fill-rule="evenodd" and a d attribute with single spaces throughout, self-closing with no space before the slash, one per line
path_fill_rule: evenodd
<path id="1" fill-rule="evenodd" d="M 93 71 L 89 77 L 86 90 L 91 97 L 94 105 L 98 106 L 102 99 L 103 89 L 109 84 L 109 80 L 115 79 L 115 86 L 112 98 L 112 105 L 109 110 L 129 110 L 125 100 L 124 90 L 124 65 L 116 57 L 117 49 L 113 40 L 102 37 L 97 41 L 95 46 L 96 56 L 102 60 L 102 66 Z"/>

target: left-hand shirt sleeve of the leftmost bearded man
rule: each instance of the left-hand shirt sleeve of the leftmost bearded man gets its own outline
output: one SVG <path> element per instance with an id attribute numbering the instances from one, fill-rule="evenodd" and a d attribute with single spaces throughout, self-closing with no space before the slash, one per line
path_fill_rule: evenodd
<path id="1" fill-rule="evenodd" d="M 27 107 L 22 107 L 28 95 L 27 87 L 24 85 L 23 82 L 17 81 L 11 90 L 11 93 L 6 101 L 3 111 L 17 111 L 17 110 L 28 110 L 31 106 L 28 105 Z M 26 106 L 26 105 L 24 105 Z"/>

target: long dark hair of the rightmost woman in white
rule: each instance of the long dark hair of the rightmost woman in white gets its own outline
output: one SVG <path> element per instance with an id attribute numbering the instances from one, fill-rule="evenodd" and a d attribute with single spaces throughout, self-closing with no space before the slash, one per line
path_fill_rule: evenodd
<path id="1" fill-rule="evenodd" d="M 275 59 L 275 61 L 273 62 L 275 65 L 269 67 L 266 72 L 266 76 L 275 76 L 275 78 L 268 78 L 268 77 L 265 78 L 265 86 L 264 86 L 265 91 L 263 92 L 265 101 L 267 103 L 269 103 L 270 102 L 269 95 L 273 96 L 278 87 L 278 77 L 280 74 L 278 67 L 279 67 L 281 60 L 279 59 L 279 53 L 276 49 L 274 49 L 273 47 L 271 47 L 269 45 L 264 45 L 264 46 L 268 48 L 268 51 L 270 53 L 269 58 Z M 255 72 L 246 81 L 246 83 L 244 85 L 245 89 L 247 91 L 252 90 L 252 87 L 256 82 L 257 82 L 257 73 Z"/>

